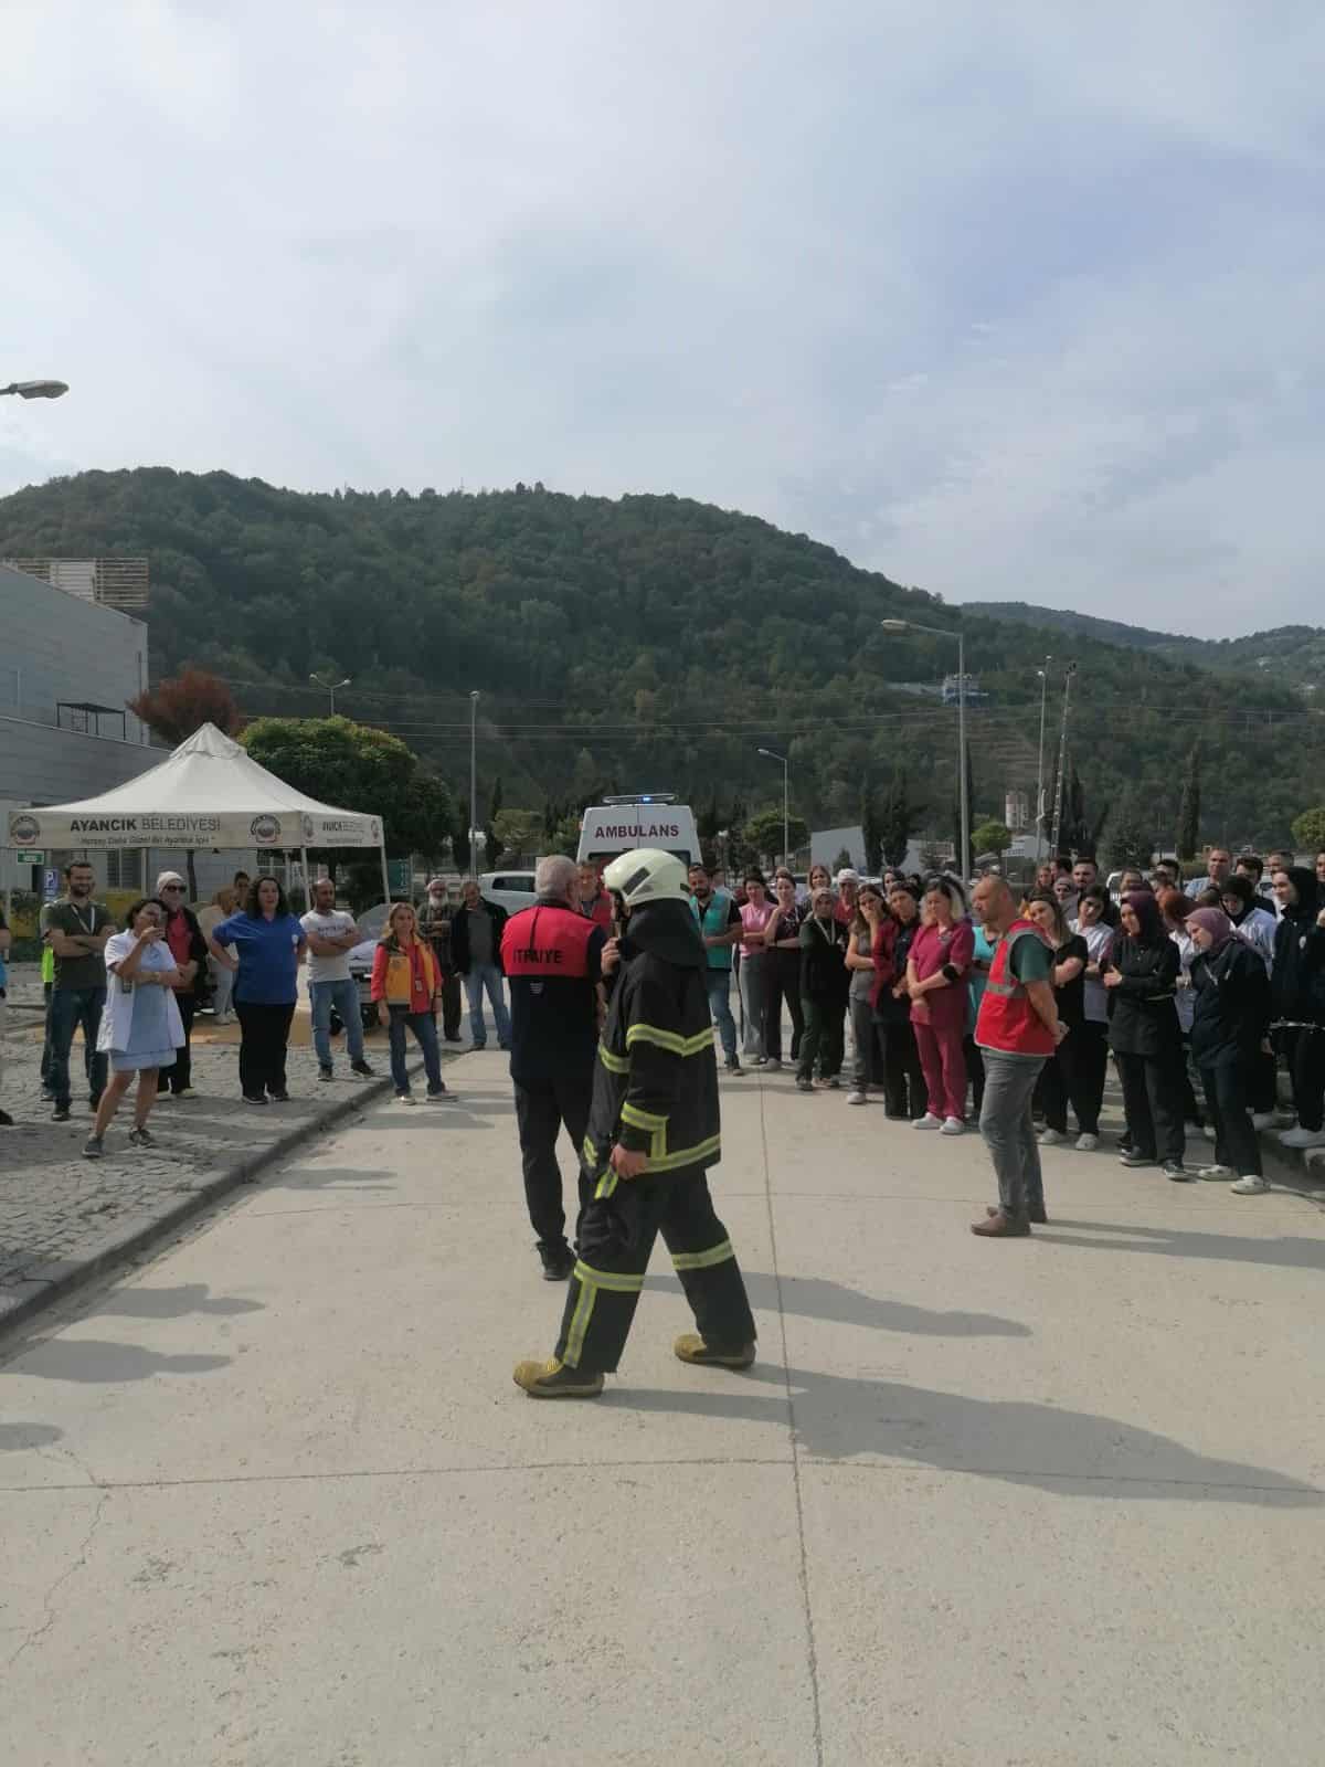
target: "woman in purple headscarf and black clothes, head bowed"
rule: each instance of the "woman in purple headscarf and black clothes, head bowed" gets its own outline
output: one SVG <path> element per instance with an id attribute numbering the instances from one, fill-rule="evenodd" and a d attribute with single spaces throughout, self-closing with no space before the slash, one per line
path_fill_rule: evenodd
<path id="1" fill-rule="evenodd" d="M 1270 1186 L 1247 1088 L 1270 1023 L 1270 979 L 1223 908 L 1194 908 L 1187 933 L 1196 947 L 1191 1053 L 1215 1131 L 1215 1163 L 1201 1177 L 1235 1179 L 1235 1194 L 1260 1196 Z"/>

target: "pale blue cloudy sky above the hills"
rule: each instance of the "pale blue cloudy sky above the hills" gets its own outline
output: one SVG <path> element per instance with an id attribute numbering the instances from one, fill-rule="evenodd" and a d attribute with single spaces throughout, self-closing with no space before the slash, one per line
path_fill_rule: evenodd
<path id="1" fill-rule="evenodd" d="M 1325 622 L 1320 0 L 9 0 L 0 491 L 678 491 Z"/>

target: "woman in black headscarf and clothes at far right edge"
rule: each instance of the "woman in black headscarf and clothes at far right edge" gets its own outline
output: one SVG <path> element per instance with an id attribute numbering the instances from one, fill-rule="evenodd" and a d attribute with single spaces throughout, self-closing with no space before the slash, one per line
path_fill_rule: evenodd
<path id="1" fill-rule="evenodd" d="M 1297 1127 L 1279 1140 L 1284 1147 L 1325 1147 L 1325 908 L 1306 866 L 1276 869 L 1274 894 L 1279 926 L 1270 993 L 1297 1111 Z"/>

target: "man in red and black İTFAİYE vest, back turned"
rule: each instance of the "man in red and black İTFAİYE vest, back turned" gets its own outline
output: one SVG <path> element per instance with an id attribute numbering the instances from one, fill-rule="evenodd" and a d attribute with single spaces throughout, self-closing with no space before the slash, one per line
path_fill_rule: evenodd
<path id="1" fill-rule="evenodd" d="M 576 1260 L 565 1239 L 556 1136 L 565 1126 L 579 1159 L 594 1097 L 606 940 L 579 912 L 574 861 L 541 859 L 534 889 L 539 899 L 512 914 L 502 931 L 502 968 L 511 984 L 511 1078 L 525 1202 L 542 1276 L 564 1283 Z M 581 1194 L 581 1203 L 587 1200 Z"/>

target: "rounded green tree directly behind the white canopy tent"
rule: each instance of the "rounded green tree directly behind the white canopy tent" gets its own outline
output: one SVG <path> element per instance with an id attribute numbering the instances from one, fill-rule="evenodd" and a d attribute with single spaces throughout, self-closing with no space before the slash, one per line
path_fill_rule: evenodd
<path id="1" fill-rule="evenodd" d="M 299 792 L 382 816 L 389 853 L 440 852 L 452 830 L 445 781 L 385 730 L 348 717 L 256 717 L 238 740 Z"/>

